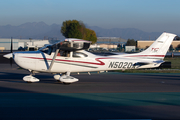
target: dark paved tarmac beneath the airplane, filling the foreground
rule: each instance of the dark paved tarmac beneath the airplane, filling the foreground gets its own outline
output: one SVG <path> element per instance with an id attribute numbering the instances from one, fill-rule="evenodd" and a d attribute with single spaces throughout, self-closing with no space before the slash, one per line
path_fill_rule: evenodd
<path id="1" fill-rule="evenodd" d="M 79 81 L 70 85 L 47 73 L 26 83 L 25 75 L 0 64 L 0 119 L 180 119 L 180 74 L 72 73 Z"/>

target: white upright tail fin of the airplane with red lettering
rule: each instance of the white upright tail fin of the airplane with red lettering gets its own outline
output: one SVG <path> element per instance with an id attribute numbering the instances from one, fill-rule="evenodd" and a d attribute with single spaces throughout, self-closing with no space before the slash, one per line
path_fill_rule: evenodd
<path id="1" fill-rule="evenodd" d="M 175 36 L 175 34 L 171 33 L 162 33 L 149 48 L 137 53 L 136 57 L 163 60 Z"/>

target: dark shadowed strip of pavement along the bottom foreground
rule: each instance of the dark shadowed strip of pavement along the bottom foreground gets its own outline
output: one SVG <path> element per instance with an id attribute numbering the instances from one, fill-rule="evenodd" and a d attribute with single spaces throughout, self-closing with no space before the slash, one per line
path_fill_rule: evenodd
<path id="1" fill-rule="evenodd" d="M 3 87 L 0 87 L 0 91 L 0 118 L 6 120 L 164 119 L 178 116 L 166 113 L 168 110 L 159 110 L 158 106 L 126 106 L 113 101 L 105 102 L 66 96 L 67 94 L 36 93 Z M 93 97 L 95 96 L 92 95 L 90 98 Z"/>

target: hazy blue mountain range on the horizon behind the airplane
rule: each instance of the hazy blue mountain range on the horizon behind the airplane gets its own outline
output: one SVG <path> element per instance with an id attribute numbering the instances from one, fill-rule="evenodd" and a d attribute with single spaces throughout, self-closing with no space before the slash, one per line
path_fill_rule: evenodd
<path id="1" fill-rule="evenodd" d="M 120 37 L 123 39 L 154 40 L 160 36 L 160 32 L 144 32 L 135 28 L 112 28 L 104 29 L 98 26 L 87 26 L 94 30 L 97 37 Z M 44 22 L 27 22 L 19 26 L 0 26 L 0 38 L 22 38 L 22 39 L 64 39 L 60 33 L 61 25 L 47 25 Z M 162 31 L 163 32 L 163 31 Z"/>

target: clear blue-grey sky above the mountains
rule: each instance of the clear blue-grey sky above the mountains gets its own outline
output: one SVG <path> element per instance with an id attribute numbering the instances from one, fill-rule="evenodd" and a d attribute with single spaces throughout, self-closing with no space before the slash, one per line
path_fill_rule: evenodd
<path id="1" fill-rule="evenodd" d="M 106 29 L 180 34 L 179 6 L 180 0 L 0 0 L 0 25 L 75 19 Z"/>

